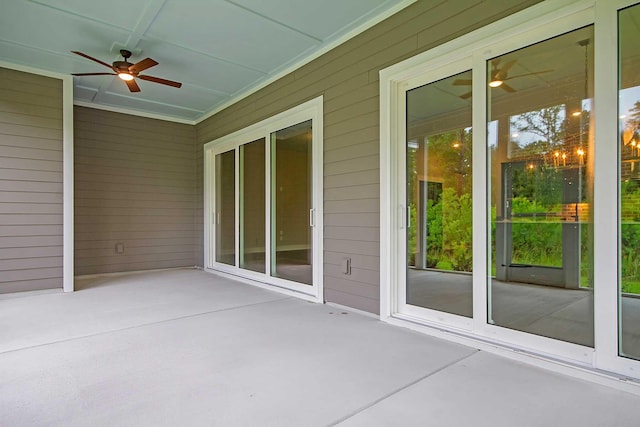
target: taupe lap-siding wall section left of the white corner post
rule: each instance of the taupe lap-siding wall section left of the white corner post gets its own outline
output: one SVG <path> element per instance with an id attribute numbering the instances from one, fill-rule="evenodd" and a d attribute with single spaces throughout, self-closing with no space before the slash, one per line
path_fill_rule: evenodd
<path id="1" fill-rule="evenodd" d="M 0 293 L 62 287 L 62 81 L 0 68 Z"/>

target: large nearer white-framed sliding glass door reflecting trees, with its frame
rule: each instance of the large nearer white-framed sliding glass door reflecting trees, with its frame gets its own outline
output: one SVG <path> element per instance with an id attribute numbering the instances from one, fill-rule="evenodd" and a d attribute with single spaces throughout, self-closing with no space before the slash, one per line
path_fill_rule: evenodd
<path id="1" fill-rule="evenodd" d="M 381 71 L 381 314 L 638 378 L 640 2 L 561 3 Z"/>

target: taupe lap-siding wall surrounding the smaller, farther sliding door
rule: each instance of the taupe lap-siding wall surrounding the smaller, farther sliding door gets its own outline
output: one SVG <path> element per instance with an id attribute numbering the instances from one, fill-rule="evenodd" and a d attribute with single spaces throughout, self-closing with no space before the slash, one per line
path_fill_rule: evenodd
<path id="1" fill-rule="evenodd" d="M 535 3 L 538 0 L 417 1 L 199 123 L 198 185 L 203 144 L 324 95 L 325 299 L 377 313 L 379 71 Z M 201 218 L 202 193 L 197 194 Z M 198 227 L 200 233 L 202 225 Z M 351 258 L 351 275 L 342 274 L 346 257 Z M 203 263 L 201 251 L 198 262 Z"/>

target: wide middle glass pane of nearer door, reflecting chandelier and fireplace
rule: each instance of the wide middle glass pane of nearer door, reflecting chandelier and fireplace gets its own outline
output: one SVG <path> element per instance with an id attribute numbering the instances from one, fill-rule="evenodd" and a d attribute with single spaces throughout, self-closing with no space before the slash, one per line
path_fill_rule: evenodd
<path id="1" fill-rule="evenodd" d="M 489 323 L 593 346 L 593 27 L 487 61 Z"/>

